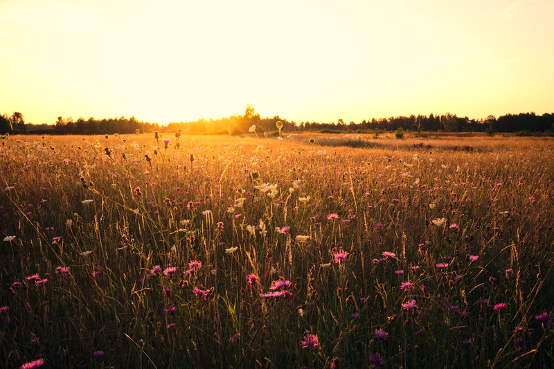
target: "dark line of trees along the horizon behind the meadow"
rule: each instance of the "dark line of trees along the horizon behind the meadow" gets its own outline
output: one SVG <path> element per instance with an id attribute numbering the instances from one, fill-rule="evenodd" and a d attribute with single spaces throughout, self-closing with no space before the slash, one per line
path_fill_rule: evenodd
<path id="1" fill-rule="evenodd" d="M 516 132 L 520 134 L 549 134 L 554 131 L 554 113 L 537 116 L 535 113 L 506 114 L 496 118 L 488 116 L 485 119 L 461 118 L 456 114 L 411 115 L 391 118 L 371 118 L 361 123 L 345 123 L 342 119 L 337 123 L 301 122 L 295 123 L 279 116 L 262 118 L 251 105 L 247 105 L 244 114 L 227 118 L 204 118 L 191 121 L 170 123 L 161 126 L 158 123 L 148 123 L 134 117 L 125 118 L 62 118 L 57 117 L 55 125 L 27 124 L 24 116 L 16 111 L 11 116 L 0 116 L 0 134 L 132 134 L 137 132 L 176 132 L 181 129 L 184 134 L 245 134 L 252 125 L 256 132 L 268 134 L 276 132 L 276 123 L 283 123 L 283 132 L 392 132 L 397 129 L 411 132 Z"/>

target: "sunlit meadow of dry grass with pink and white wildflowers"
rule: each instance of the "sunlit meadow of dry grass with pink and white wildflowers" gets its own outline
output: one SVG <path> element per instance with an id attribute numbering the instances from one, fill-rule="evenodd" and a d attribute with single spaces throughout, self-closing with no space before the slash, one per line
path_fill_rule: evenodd
<path id="1" fill-rule="evenodd" d="M 554 366 L 551 138 L 283 138 L 3 137 L 0 367 Z"/>

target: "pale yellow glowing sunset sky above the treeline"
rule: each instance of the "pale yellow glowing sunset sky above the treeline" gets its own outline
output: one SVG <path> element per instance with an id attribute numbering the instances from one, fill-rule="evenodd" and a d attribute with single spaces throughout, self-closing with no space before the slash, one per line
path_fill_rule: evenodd
<path id="1" fill-rule="evenodd" d="M 0 0 L 0 114 L 554 112 L 554 0 Z"/>

